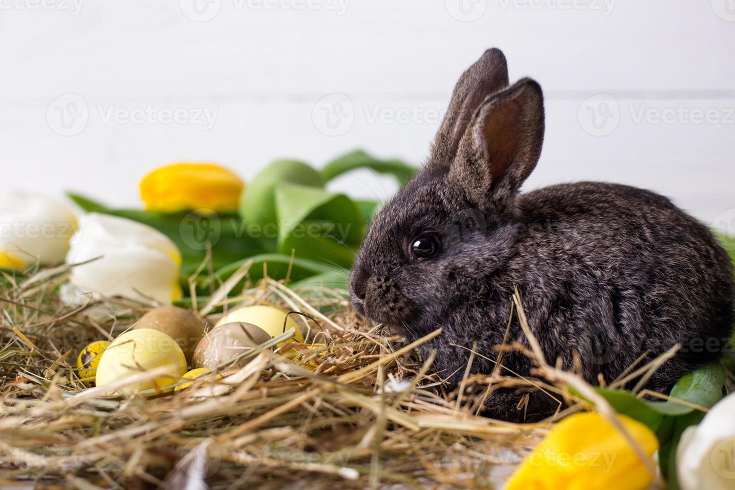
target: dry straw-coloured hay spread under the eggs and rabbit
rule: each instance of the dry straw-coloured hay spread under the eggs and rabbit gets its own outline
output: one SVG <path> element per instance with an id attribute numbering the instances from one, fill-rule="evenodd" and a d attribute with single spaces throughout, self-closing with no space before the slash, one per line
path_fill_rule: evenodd
<path id="1" fill-rule="evenodd" d="M 229 281 L 190 308 L 209 325 L 235 303 L 300 311 L 326 352 L 286 359 L 252 350 L 245 367 L 222 365 L 175 393 L 111 396 L 79 381 L 76 356 L 149 306 L 115 298 L 65 306 L 67 274 L 1 279 L 0 485 L 490 487 L 549 427 L 477 415 L 479 397 L 517 378 L 465 376 L 462 389 L 446 392 L 431 359 L 414 351 L 438 331 L 405 345 L 359 319 L 343 291 L 272 279 L 236 298 L 227 298 L 237 283 Z"/>

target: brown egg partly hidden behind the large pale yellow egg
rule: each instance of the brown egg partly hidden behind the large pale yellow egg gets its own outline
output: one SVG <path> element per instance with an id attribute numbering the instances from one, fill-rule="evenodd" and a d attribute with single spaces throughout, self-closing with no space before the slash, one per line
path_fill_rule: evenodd
<path id="1" fill-rule="evenodd" d="M 204 322 L 191 311 L 176 306 L 160 306 L 140 317 L 133 329 L 152 328 L 170 336 L 191 362 L 197 342 L 204 336 Z"/>

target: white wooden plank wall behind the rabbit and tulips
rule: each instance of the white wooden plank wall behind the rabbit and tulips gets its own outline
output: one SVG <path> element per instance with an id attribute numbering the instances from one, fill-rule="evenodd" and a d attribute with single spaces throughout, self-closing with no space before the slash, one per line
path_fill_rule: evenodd
<path id="1" fill-rule="evenodd" d="M 0 0 L 0 46 L 6 186 L 139 206 L 140 177 L 176 161 L 246 180 L 354 148 L 420 165 L 459 74 L 498 46 L 545 91 L 526 189 L 620 181 L 735 217 L 733 0 Z"/>

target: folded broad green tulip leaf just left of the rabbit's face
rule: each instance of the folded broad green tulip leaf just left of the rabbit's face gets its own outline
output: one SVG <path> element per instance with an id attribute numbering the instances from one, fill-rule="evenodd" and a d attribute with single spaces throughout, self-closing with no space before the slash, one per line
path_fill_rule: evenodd
<path id="1" fill-rule="evenodd" d="M 295 251 L 336 267 L 352 266 L 354 254 L 365 236 L 359 207 L 343 194 L 316 187 L 279 184 L 276 187 L 280 253 Z"/>

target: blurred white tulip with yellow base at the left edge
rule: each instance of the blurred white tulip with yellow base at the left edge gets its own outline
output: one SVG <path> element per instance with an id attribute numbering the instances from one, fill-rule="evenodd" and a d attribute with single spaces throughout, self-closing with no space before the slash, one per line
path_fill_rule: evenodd
<path id="1" fill-rule="evenodd" d="M 76 217 L 45 195 L 11 190 L 0 197 L 0 267 L 61 262 Z"/>

